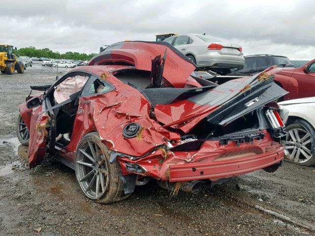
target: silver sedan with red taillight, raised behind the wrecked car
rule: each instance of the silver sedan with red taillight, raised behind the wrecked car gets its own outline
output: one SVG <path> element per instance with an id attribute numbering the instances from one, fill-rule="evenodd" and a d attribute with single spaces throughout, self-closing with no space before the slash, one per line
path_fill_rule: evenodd
<path id="1" fill-rule="evenodd" d="M 200 68 L 230 72 L 229 68 L 243 69 L 242 46 L 224 42 L 204 34 L 180 34 L 166 38 L 163 42 L 173 45 Z"/>

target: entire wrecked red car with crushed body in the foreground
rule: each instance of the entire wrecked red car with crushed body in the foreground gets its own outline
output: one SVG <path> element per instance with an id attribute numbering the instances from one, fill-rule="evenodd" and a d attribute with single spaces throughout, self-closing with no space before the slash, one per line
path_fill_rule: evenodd
<path id="1" fill-rule="evenodd" d="M 284 124 L 273 101 L 286 91 L 266 73 L 218 86 L 190 75 L 194 69 L 167 43 L 128 41 L 52 86 L 31 87 L 42 92 L 20 106 L 17 131 L 30 168 L 59 160 L 99 203 L 122 200 L 150 179 L 197 193 L 276 171 Z"/>

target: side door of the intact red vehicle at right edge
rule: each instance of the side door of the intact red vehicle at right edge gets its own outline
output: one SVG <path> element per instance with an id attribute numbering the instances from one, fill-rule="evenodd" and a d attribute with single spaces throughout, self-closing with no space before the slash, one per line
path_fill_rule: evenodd
<path id="1" fill-rule="evenodd" d="M 315 61 L 311 62 L 307 68 L 305 66 L 297 68 L 292 77 L 298 83 L 299 98 L 315 96 Z"/>

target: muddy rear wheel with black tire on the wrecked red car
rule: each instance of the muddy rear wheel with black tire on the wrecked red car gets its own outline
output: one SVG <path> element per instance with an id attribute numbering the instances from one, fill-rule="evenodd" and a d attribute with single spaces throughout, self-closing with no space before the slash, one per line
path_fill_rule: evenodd
<path id="1" fill-rule="evenodd" d="M 96 158 L 98 160 L 94 162 L 94 164 L 90 159 L 90 158 L 95 159 L 93 157 L 93 152 L 91 151 L 91 147 L 93 150 L 95 149 L 97 150 L 94 152 L 94 154 L 98 153 L 99 155 L 99 157 Z M 81 150 L 84 150 L 85 154 L 83 154 Z M 88 158 L 86 154 L 90 155 L 90 158 Z M 75 175 L 83 193 L 88 198 L 94 200 L 97 203 L 109 204 L 109 203 L 121 201 L 123 199 L 126 199 L 128 196 L 130 196 L 130 194 L 125 194 L 124 189 L 123 189 L 123 180 L 120 178 L 120 173 L 121 173 L 120 165 L 117 162 L 110 164 L 109 159 L 110 159 L 110 156 L 108 154 L 108 149 L 106 145 L 104 145 L 101 142 L 99 138 L 99 134 L 97 132 L 93 132 L 93 133 L 89 133 L 85 135 L 83 139 L 79 142 L 78 148 L 76 150 L 76 156 L 75 156 Z M 100 164 L 99 160 L 101 160 L 100 162 L 103 161 L 103 163 Z M 86 167 L 86 165 L 82 165 L 80 164 L 80 162 L 81 163 L 84 162 L 88 164 L 92 163 L 92 167 Z M 98 166 L 97 170 L 95 168 L 96 166 Z M 101 166 L 101 168 L 99 168 L 99 166 Z M 94 174 L 91 174 L 88 178 L 86 178 L 87 175 L 91 172 L 90 171 L 91 168 L 92 168 L 92 171 L 94 171 L 93 172 Z M 101 185 L 101 186 L 104 186 L 105 190 L 103 193 L 101 193 L 101 196 L 98 196 L 96 195 L 97 190 L 93 192 L 93 188 L 96 189 L 96 184 L 94 186 L 95 181 L 97 183 L 97 180 L 93 182 L 93 178 L 95 178 L 95 176 L 97 178 L 97 175 L 98 176 L 101 175 L 100 173 L 101 170 L 105 170 L 105 172 L 107 172 L 107 176 L 105 174 L 102 176 L 102 181 L 103 183 L 106 181 L 106 185 L 105 184 Z M 98 172 L 98 174 L 96 172 Z M 92 175 L 94 176 L 92 177 Z M 101 178 L 99 177 L 99 179 Z M 92 184 L 93 187 L 89 189 L 88 186 L 91 185 L 91 182 L 93 182 Z"/>

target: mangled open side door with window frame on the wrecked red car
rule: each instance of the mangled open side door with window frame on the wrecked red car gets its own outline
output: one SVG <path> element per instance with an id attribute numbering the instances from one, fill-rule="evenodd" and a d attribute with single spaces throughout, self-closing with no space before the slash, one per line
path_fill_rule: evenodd
<path id="1" fill-rule="evenodd" d="M 79 82 L 77 82 L 77 76 L 81 76 Z M 58 113 L 64 106 L 69 110 L 69 104 L 75 104 L 79 93 L 81 93 L 90 76 L 82 72 L 65 75 L 47 90 L 47 95 L 43 97 L 42 104 L 33 110 L 30 124 L 30 168 L 55 154 L 56 136 L 60 134 L 58 125 L 60 125 L 59 122 L 65 120 L 58 120 Z M 58 92 L 56 93 L 56 91 Z"/>

